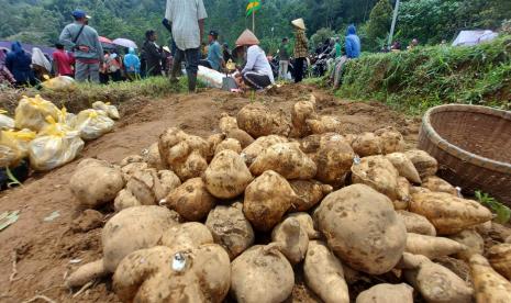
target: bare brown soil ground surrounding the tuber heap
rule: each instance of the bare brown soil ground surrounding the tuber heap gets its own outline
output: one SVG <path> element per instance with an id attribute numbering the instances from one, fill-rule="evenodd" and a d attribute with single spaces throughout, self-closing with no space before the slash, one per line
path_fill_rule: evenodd
<path id="1" fill-rule="evenodd" d="M 393 112 L 381 103 L 347 102 L 304 85 L 279 88 L 257 96 L 255 101 L 290 112 L 295 102 L 309 99 L 311 92 L 318 98 L 319 112 L 337 116 L 345 133 L 392 125 L 410 145 L 416 143 L 420 120 Z M 222 112 L 236 114 L 249 102 L 249 98 L 216 90 L 126 102 L 121 106 L 123 117 L 115 131 L 87 144 L 80 158 L 51 172 L 32 176 L 22 188 L 1 192 L 0 213 L 20 210 L 21 214 L 16 223 L 0 233 L 0 302 L 23 302 L 37 294 L 55 302 L 119 302 L 109 278 L 76 298 L 63 284 L 64 278 L 78 266 L 101 257 L 101 228 L 85 233 L 71 228 L 76 225 L 74 220 L 84 212 L 68 189 L 75 167 L 86 157 L 119 162 L 125 156 L 140 154 L 170 126 L 208 136 L 219 131 Z M 104 223 L 112 210 L 100 211 Z M 289 301 L 315 302 L 300 277 Z"/>

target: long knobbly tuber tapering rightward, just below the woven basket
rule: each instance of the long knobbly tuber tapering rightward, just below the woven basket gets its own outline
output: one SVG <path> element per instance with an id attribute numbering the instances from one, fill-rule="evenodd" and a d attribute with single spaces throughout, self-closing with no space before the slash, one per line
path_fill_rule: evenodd
<path id="1" fill-rule="evenodd" d="M 413 194 L 410 211 L 425 216 L 438 235 L 454 235 L 491 220 L 491 212 L 476 201 L 445 192 Z"/>

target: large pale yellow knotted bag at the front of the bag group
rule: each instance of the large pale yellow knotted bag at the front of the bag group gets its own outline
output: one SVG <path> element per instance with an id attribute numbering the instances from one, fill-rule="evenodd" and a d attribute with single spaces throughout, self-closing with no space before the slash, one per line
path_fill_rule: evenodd
<path id="1" fill-rule="evenodd" d="M 30 143 L 30 164 L 34 170 L 51 170 L 73 159 L 84 148 L 77 131 L 48 117 L 48 125 Z"/>

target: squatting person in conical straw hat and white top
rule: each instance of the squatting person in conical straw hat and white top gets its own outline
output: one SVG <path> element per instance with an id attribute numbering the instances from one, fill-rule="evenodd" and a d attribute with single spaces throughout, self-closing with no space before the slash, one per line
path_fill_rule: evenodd
<path id="1" fill-rule="evenodd" d="M 249 30 L 245 30 L 236 41 L 233 56 L 241 57 L 246 54 L 246 64 L 237 76 L 238 83 L 262 90 L 275 82 L 274 72 L 266 57 L 265 50 L 259 46 L 259 40 Z"/>

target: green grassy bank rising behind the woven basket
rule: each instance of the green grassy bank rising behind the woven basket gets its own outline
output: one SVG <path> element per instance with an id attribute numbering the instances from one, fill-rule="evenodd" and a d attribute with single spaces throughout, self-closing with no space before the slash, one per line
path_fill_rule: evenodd
<path id="1" fill-rule="evenodd" d="M 442 103 L 511 109 L 511 36 L 475 47 L 371 54 L 346 65 L 337 94 L 419 113 Z"/>

